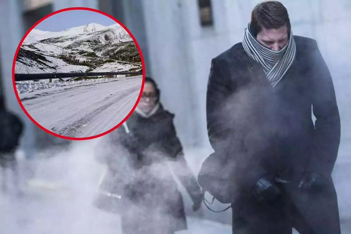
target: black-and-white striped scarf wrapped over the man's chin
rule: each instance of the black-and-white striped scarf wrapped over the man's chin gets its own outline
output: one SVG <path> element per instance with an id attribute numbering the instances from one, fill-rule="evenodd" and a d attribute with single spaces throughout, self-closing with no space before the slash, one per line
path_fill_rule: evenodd
<path id="1" fill-rule="evenodd" d="M 292 36 L 292 31 L 290 31 L 289 41 L 284 48 L 280 51 L 273 51 L 262 45 L 256 39 L 250 31 L 250 24 L 244 32 L 243 47 L 253 60 L 259 62 L 263 66 L 267 79 L 273 87 L 277 85 L 289 70 L 296 55 L 296 45 Z"/>

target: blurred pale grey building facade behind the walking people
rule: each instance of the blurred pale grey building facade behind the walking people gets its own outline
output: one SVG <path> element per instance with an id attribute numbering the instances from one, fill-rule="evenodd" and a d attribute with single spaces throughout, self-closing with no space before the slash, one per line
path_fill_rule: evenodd
<path id="1" fill-rule="evenodd" d="M 12 62 L 22 36 L 43 16 L 67 7 L 100 9 L 120 20 L 135 36 L 143 52 L 146 74 L 157 80 L 161 100 L 176 114 L 177 132 L 200 167 L 211 152 L 206 130 L 206 85 L 213 57 L 241 41 L 258 0 L 1 0 L 1 89 L 7 105 L 26 121 L 22 148 L 30 155 L 39 136 L 49 135 L 36 127 L 21 110 L 12 84 Z M 342 120 L 342 143 L 334 178 L 340 213 L 351 208 L 347 178 L 351 178 L 351 1 L 282 0 L 288 9 L 293 33 L 318 41 L 335 84 Z M 46 138 L 46 137 L 44 137 Z M 192 149 L 201 149 L 192 151 Z M 345 168 L 345 170 L 343 169 Z M 196 170 L 196 169 L 194 169 Z M 218 205 L 218 207 L 223 207 Z M 229 213 L 208 214 L 221 221 Z"/>

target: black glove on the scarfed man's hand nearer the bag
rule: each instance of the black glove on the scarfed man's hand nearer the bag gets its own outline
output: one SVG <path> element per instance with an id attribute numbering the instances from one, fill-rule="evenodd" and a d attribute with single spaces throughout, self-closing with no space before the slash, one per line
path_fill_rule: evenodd
<path id="1" fill-rule="evenodd" d="M 278 186 L 271 181 L 268 176 L 263 176 L 251 188 L 251 195 L 259 203 L 273 203 L 282 195 Z"/>

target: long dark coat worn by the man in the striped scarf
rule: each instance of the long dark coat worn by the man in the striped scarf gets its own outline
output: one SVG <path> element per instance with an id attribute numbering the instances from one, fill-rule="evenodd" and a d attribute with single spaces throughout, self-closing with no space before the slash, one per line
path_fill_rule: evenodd
<path id="1" fill-rule="evenodd" d="M 207 128 L 216 156 L 209 160 L 220 165 L 221 183 L 214 188 L 204 179 L 206 173 L 204 178 L 199 175 L 199 183 L 219 193 L 222 202 L 231 202 L 234 214 L 239 212 L 240 198 L 261 176 L 277 176 L 291 182 L 285 185 L 288 195 L 316 233 L 339 233 L 331 179 L 340 143 L 335 91 L 317 42 L 301 36 L 294 39 L 296 60 L 274 88 L 241 43 L 212 60 Z M 297 190 L 305 171 L 325 176 L 324 192 Z"/>

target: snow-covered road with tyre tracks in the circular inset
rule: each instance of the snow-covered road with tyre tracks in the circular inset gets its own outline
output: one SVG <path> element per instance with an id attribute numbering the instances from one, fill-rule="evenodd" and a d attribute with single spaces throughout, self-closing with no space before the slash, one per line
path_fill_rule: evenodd
<path id="1" fill-rule="evenodd" d="M 108 79 L 19 94 L 41 126 L 69 137 L 89 137 L 116 126 L 138 99 L 142 77 Z"/>

